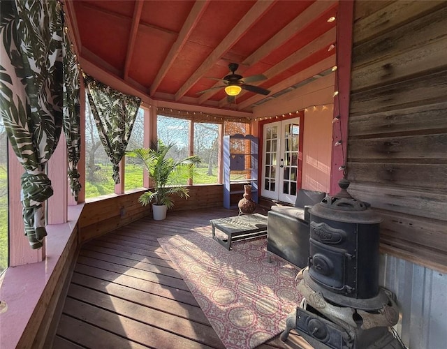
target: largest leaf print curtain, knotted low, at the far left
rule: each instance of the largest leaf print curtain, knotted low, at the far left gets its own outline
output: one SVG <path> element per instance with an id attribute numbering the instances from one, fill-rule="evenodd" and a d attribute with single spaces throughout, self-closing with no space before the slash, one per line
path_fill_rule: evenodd
<path id="1" fill-rule="evenodd" d="M 52 195 L 45 164 L 62 126 L 62 24 L 57 1 L 0 2 L 0 107 L 8 140 L 26 172 L 21 200 L 31 248 L 43 246 L 42 202 Z"/>

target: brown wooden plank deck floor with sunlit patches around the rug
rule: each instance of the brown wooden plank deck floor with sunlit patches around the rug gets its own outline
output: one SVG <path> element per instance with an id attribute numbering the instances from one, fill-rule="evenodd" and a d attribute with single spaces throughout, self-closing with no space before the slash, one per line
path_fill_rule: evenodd
<path id="1" fill-rule="evenodd" d="M 224 348 L 159 237 L 209 231 L 228 209 L 142 218 L 82 246 L 53 348 Z M 218 248 L 223 248 L 217 245 Z M 310 348 L 291 333 L 258 348 Z"/>

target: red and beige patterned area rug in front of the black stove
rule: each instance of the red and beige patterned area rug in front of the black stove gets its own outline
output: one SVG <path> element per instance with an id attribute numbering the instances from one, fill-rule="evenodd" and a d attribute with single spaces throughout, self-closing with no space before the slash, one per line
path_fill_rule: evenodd
<path id="1" fill-rule="evenodd" d="M 226 348 L 255 348 L 272 339 L 300 304 L 299 269 L 278 258 L 269 263 L 265 238 L 235 242 L 231 251 L 199 233 L 159 243 Z"/>

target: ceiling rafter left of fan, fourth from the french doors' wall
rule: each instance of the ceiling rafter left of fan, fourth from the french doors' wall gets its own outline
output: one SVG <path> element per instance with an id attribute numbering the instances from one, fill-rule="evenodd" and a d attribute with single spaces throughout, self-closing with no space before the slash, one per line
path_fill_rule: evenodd
<path id="1" fill-rule="evenodd" d="M 276 2 L 258 0 L 175 94 L 178 101 Z"/>

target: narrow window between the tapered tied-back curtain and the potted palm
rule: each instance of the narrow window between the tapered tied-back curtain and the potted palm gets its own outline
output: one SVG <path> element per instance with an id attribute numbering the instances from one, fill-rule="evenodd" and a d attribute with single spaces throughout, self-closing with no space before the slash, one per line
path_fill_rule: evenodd
<path id="1" fill-rule="evenodd" d="M 129 138 L 129 143 L 127 144 L 128 150 L 142 148 L 143 139 L 145 132 L 145 111 L 140 108 L 138 114 L 135 118 L 135 124 L 133 124 L 131 137 Z M 137 158 L 131 158 L 126 156 L 126 168 L 124 168 L 124 190 L 129 191 L 130 189 L 141 188 L 142 187 L 142 174 L 143 168 L 138 165 Z"/>

